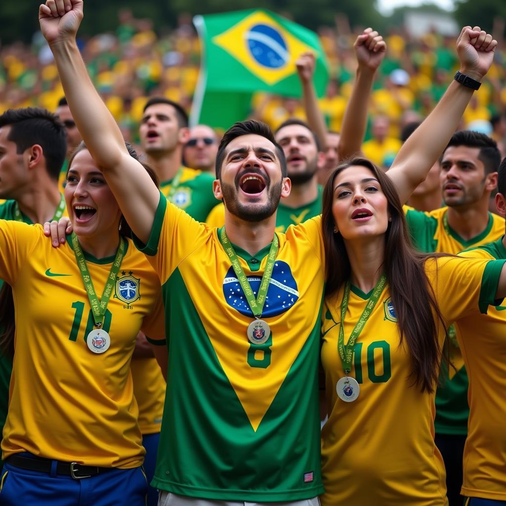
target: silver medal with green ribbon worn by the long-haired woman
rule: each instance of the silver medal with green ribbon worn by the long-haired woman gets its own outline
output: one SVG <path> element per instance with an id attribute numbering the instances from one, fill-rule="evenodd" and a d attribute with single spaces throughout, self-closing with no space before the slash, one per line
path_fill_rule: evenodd
<path id="1" fill-rule="evenodd" d="M 352 330 L 350 334 L 350 339 L 348 339 L 348 343 L 345 345 L 345 318 L 346 318 L 346 310 L 348 309 L 348 301 L 350 300 L 350 282 L 348 281 L 345 285 L 345 289 L 343 292 L 343 300 L 341 302 L 341 325 L 339 327 L 339 337 L 338 337 L 338 352 L 339 358 L 343 364 L 343 369 L 345 371 L 345 377 L 341 378 L 338 383 L 335 385 L 335 391 L 338 394 L 338 397 L 345 402 L 352 402 L 357 399 L 358 394 L 360 392 L 360 386 L 357 380 L 351 376 L 349 376 L 351 371 L 351 362 L 353 360 L 353 354 L 355 351 L 355 343 L 357 342 L 358 336 L 360 332 L 365 327 L 369 316 L 372 314 L 372 310 L 374 306 L 381 297 L 383 293 L 383 289 L 387 284 L 387 277 L 385 274 L 379 278 L 374 290 L 372 290 L 372 294 L 365 305 L 364 310 L 362 311 L 362 315 L 358 320 L 355 328 Z"/>

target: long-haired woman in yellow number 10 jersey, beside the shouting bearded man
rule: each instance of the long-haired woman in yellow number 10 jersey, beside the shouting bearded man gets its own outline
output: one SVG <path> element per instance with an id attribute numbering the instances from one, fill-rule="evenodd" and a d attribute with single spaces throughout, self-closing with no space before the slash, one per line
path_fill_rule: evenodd
<path id="1" fill-rule="evenodd" d="M 396 187 L 355 158 L 323 190 L 322 503 L 447 504 L 434 445 L 446 329 L 504 296 L 504 261 L 422 255 Z"/>

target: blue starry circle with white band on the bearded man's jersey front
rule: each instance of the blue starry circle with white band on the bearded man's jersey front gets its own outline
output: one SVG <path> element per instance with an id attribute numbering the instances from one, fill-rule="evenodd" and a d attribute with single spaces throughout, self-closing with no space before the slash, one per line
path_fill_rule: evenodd
<path id="1" fill-rule="evenodd" d="M 257 297 L 262 275 L 250 275 L 247 276 L 247 279 L 255 297 Z M 254 318 L 233 267 L 230 267 L 223 280 L 223 295 L 229 306 L 244 316 Z M 278 316 L 288 311 L 298 300 L 297 282 L 293 278 L 290 266 L 286 262 L 276 260 L 272 269 L 271 282 L 267 289 L 262 317 Z"/>

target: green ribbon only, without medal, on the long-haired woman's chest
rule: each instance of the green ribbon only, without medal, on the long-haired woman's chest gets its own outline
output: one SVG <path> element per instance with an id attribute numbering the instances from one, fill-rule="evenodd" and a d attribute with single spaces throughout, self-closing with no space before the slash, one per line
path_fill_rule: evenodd
<path id="1" fill-rule="evenodd" d="M 339 339 L 338 339 L 339 356 L 341 358 L 341 362 L 343 363 L 343 369 L 346 375 L 348 375 L 351 371 L 351 362 L 353 360 L 355 343 L 357 342 L 358 336 L 360 335 L 360 332 L 362 332 L 362 329 L 365 327 L 365 324 L 367 323 L 367 320 L 369 319 L 369 316 L 371 315 L 374 306 L 381 297 L 381 294 L 383 293 L 383 289 L 385 288 L 386 284 L 387 284 L 387 277 L 385 276 L 385 274 L 382 274 L 381 278 L 379 278 L 378 282 L 376 283 L 376 286 L 374 287 L 374 290 L 372 291 L 369 300 L 367 301 L 367 304 L 362 312 L 362 315 L 360 316 L 360 319 L 358 320 L 357 324 L 355 325 L 355 328 L 352 330 L 350 334 L 348 344 L 345 345 L 344 325 L 345 325 L 346 310 L 348 309 L 348 302 L 350 300 L 350 282 L 349 281 L 346 282 L 345 291 L 343 293 L 343 301 L 341 302 L 341 325 L 339 327 Z"/>

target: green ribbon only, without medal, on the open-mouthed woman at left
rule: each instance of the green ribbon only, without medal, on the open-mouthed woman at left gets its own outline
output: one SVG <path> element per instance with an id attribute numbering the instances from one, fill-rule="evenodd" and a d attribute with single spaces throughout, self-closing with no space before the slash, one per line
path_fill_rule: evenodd
<path id="1" fill-rule="evenodd" d="M 100 328 L 102 327 L 107 304 L 111 298 L 112 289 L 116 283 L 116 277 L 118 275 L 119 268 L 121 267 L 121 262 L 123 261 L 125 241 L 122 237 L 119 238 L 119 247 L 116 251 L 116 257 L 112 263 L 111 271 L 109 272 L 107 282 L 105 283 L 100 302 L 98 300 L 97 293 L 95 292 L 95 287 L 93 286 L 92 277 L 90 276 L 90 271 L 86 265 L 86 259 L 83 255 L 81 245 L 79 244 L 79 240 L 74 232 L 72 232 L 72 247 L 74 248 L 75 259 L 77 260 L 79 272 L 81 273 L 82 282 L 84 283 L 86 292 L 88 293 L 88 300 L 90 301 L 90 306 L 92 308 L 95 326 Z"/>

